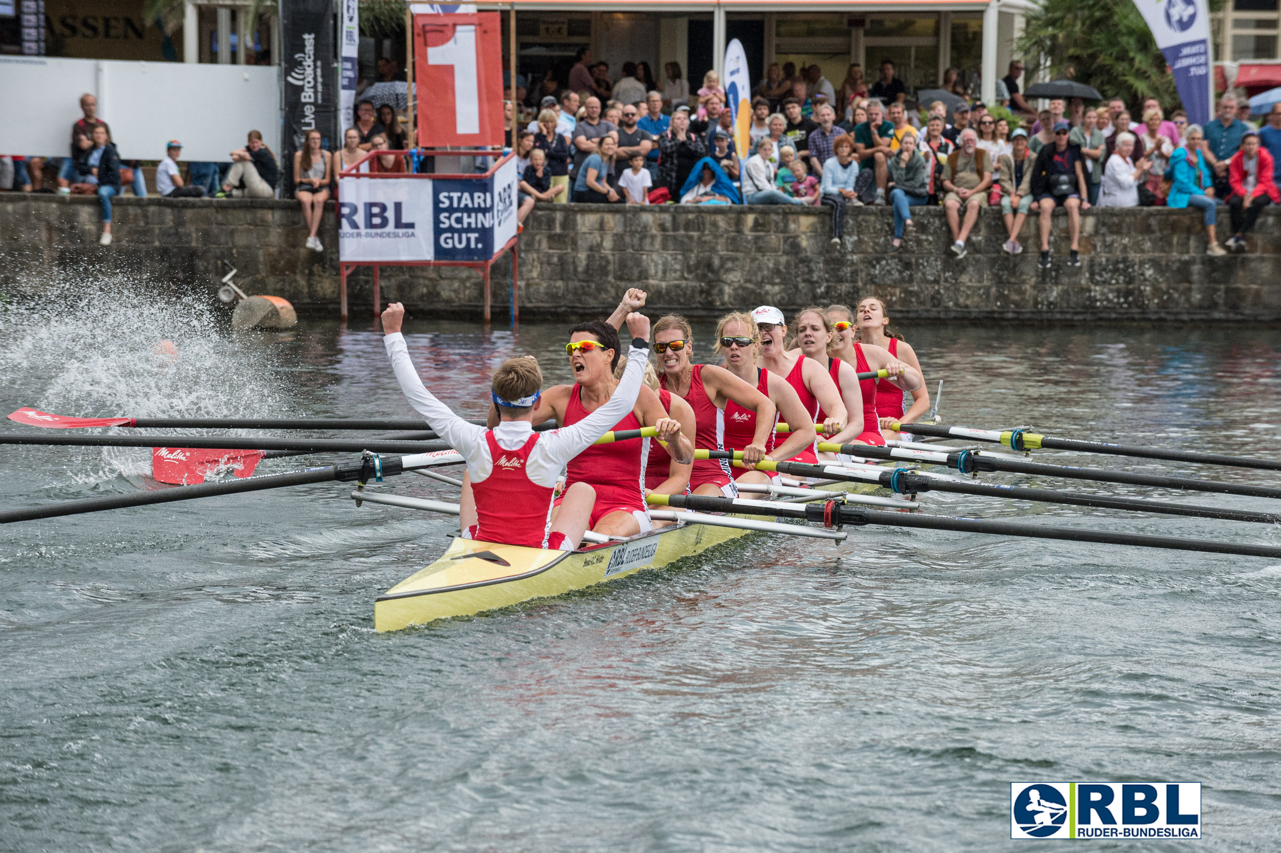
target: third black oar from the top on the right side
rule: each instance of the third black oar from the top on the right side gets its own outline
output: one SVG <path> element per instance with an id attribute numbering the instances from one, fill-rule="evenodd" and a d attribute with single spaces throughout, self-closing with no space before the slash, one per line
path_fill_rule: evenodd
<path id="1" fill-rule="evenodd" d="M 742 462 L 735 462 L 740 465 Z M 981 494 L 984 497 L 1009 498 L 1012 501 L 1035 501 L 1038 503 L 1066 503 L 1070 506 L 1093 506 L 1106 510 L 1127 510 L 1134 512 L 1158 512 L 1161 515 L 1186 515 L 1200 519 L 1221 519 L 1225 521 L 1253 521 L 1277 524 L 1281 514 L 1252 512 L 1249 510 L 1228 510 L 1214 506 L 1187 506 L 1163 501 L 1140 501 L 1136 498 L 1117 498 L 1075 492 L 1054 492 L 1052 489 L 1032 489 L 1021 485 L 999 485 L 962 480 L 945 474 L 908 471 L 902 467 L 885 469 L 877 465 L 866 467 L 844 467 L 840 465 L 808 465 L 806 462 L 760 462 L 758 470 L 776 470 L 798 476 L 824 476 L 847 483 L 875 483 L 898 494 L 917 494 L 920 492 L 954 492 L 957 494 Z"/>

